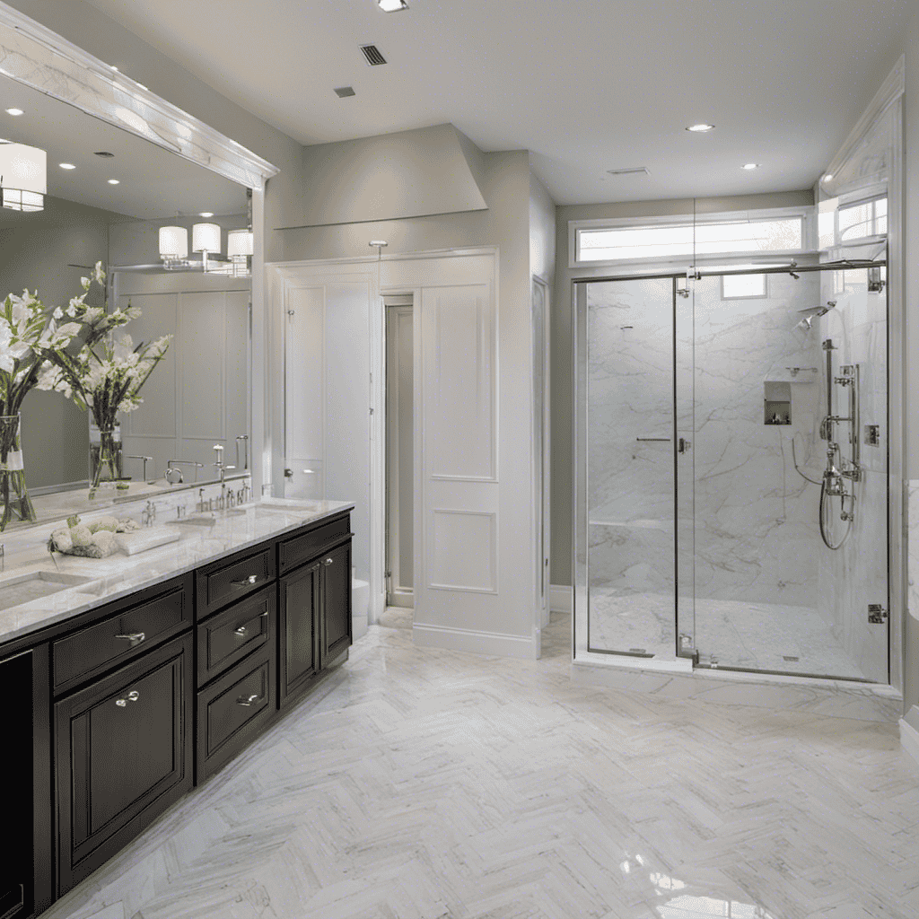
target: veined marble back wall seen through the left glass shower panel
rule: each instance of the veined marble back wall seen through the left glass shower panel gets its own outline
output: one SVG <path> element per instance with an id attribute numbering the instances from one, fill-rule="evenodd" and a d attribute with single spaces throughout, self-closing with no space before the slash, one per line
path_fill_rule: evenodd
<path id="1" fill-rule="evenodd" d="M 590 584 L 673 596 L 673 282 L 591 284 L 587 311 Z"/>

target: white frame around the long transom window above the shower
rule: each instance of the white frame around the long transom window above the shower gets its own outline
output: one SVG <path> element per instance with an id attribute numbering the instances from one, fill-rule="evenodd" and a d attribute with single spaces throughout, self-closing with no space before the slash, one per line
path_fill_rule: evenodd
<path id="1" fill-rule="evenodd" d="M 698 255 L 696 264 L 701 266 L 706 263 L 723 262 L 725 260 L 742 259 L 745 262 L 754 262 L 757 258 L 769 261 L 792 258 L 795 255 L 804 255 L 811 252 L 815 242 L 816 220 L 813 205 L 800 205 L 790 208 L 762 208 L 756 210 L 723 210 L 713 213 L 697 214 L 695 219 L 692 214 L 659 214 L 647 217 L 607 217 L 591 220 L 568 221 L 568 267 L 592 268 L 598 266 L 626 266 L 626 265 L 687 265 L 692 262 L 691 255 L 632 255 L 626 258 L 596 259 L 584 261 L 580 258 L 579 233 L 582 230 L 638 230 L 643 227 L 695 227 L 712 223 L 739 223 L 773 221 L 788 218 L 800 218 L 801 242 L 799 249 L 774 249 L 765 252 L 750 252 L 748 250 L 719 252 L 707 255 Z"/>

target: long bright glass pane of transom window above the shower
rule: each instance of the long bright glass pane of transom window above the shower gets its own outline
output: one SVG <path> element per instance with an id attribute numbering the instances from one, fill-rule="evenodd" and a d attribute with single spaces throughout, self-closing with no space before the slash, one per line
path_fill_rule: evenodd
<path id="1" fill-rule="evenodd" d="M 804 247 L 804 217 L 745 218 L 743 220 L 673 221 L 630 226 L 576 227 L 575 260 L 634 261 L 732 253 L 800 252 Z"/>

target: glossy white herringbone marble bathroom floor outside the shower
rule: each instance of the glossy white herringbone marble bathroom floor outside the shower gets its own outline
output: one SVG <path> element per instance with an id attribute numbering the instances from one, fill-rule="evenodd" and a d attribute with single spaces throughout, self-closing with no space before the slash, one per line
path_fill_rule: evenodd
<path id="1" fill-rule="evenodd" d="M 569 679 L 371 626 L 45 919 L 913 919 L 895 725 Z"/>

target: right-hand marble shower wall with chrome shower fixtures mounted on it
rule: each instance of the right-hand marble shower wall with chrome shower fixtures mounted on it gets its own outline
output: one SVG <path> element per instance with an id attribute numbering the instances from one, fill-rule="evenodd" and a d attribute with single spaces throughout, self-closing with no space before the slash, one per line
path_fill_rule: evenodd
<path id="1" fill-rule="evenodd" d="M 834 275 L 845 274 L 845 290 L 834 292 Z M 832 625 L 834 637 L 849 659 L 868 678 L 888 681 L 888 626 L 868 622 L 868 604 L 888 607 L 888 410 L 887 410 L 887 294 L 868 293 L 864 272 L 822 272 L 823 301 L 836 306 L 819 323 L 821 341 L 830 338 L 834 376 L 846 364 L 859 369 L 859 405 L 862 481 L 855 486 L 855 521 L 838 550 L 818 543 L 819 609 Z M 821 379 L 825 404 L 825 383 Z M 848 413 L 848 397 L 842 386 L 834 387 L 834 412 Z M 880 442 L 865 442 L 866 425 L 879 425 Z M 836 425 L 836 439 L 849 456 L 849 427 Z M 825 448 L 825 442 L 820 442 Z M 845 533 L 834 499 L 834 530 Z M 836 540 L 838 541 L 838 539 Z"/>

